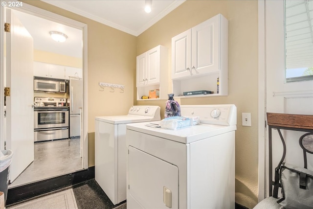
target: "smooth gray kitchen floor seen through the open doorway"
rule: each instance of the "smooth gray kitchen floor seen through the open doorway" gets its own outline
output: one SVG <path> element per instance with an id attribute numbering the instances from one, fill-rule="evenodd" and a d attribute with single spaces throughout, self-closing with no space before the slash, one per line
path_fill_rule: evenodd
<path id="1" fill-rule="evenodd" d="M 8 188 L 21 186 L 81 170 L 80 139 L 36 142 L 34 161 Z"/>

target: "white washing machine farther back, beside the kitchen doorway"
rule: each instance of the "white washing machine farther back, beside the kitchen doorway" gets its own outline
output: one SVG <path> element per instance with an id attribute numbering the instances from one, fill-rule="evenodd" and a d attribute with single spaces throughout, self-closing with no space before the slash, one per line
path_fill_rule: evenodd
<path id="1" fill-rule="evenodd" d="M 95 117 L 95 180 L 114 205 L 126 200 L 126 124 L 160 120 L 158 106 L 132 106 L 126 116 Z"/>

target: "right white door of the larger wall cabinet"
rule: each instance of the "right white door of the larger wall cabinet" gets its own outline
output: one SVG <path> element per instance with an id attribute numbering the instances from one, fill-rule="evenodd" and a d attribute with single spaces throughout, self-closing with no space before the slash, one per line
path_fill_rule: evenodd
<path id="1" fill-rule="evenodd" d="M 192 28 L 192 75 L 220 69 L 220 16 Z"/>

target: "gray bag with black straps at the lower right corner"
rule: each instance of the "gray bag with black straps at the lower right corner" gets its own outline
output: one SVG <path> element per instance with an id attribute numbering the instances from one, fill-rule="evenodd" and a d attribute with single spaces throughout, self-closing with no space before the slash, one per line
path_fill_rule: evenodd
<path id="1" fill-rule="evenodd" d="M 313 209 L 313 171 L 283 163 L 280 167 L 283 198 L 277 201 L 286 209 Z"/>

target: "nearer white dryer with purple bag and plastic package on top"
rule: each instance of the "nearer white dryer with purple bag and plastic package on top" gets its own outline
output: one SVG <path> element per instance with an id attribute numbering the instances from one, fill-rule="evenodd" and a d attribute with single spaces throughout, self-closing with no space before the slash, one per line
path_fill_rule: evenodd
<path id="1" fill-rule="evenodd" d="M 127 209 L 234 209 L 236 106 L 180 110 L 200 116 L 200 124 L 179 130 L 127 125 Z"/>

